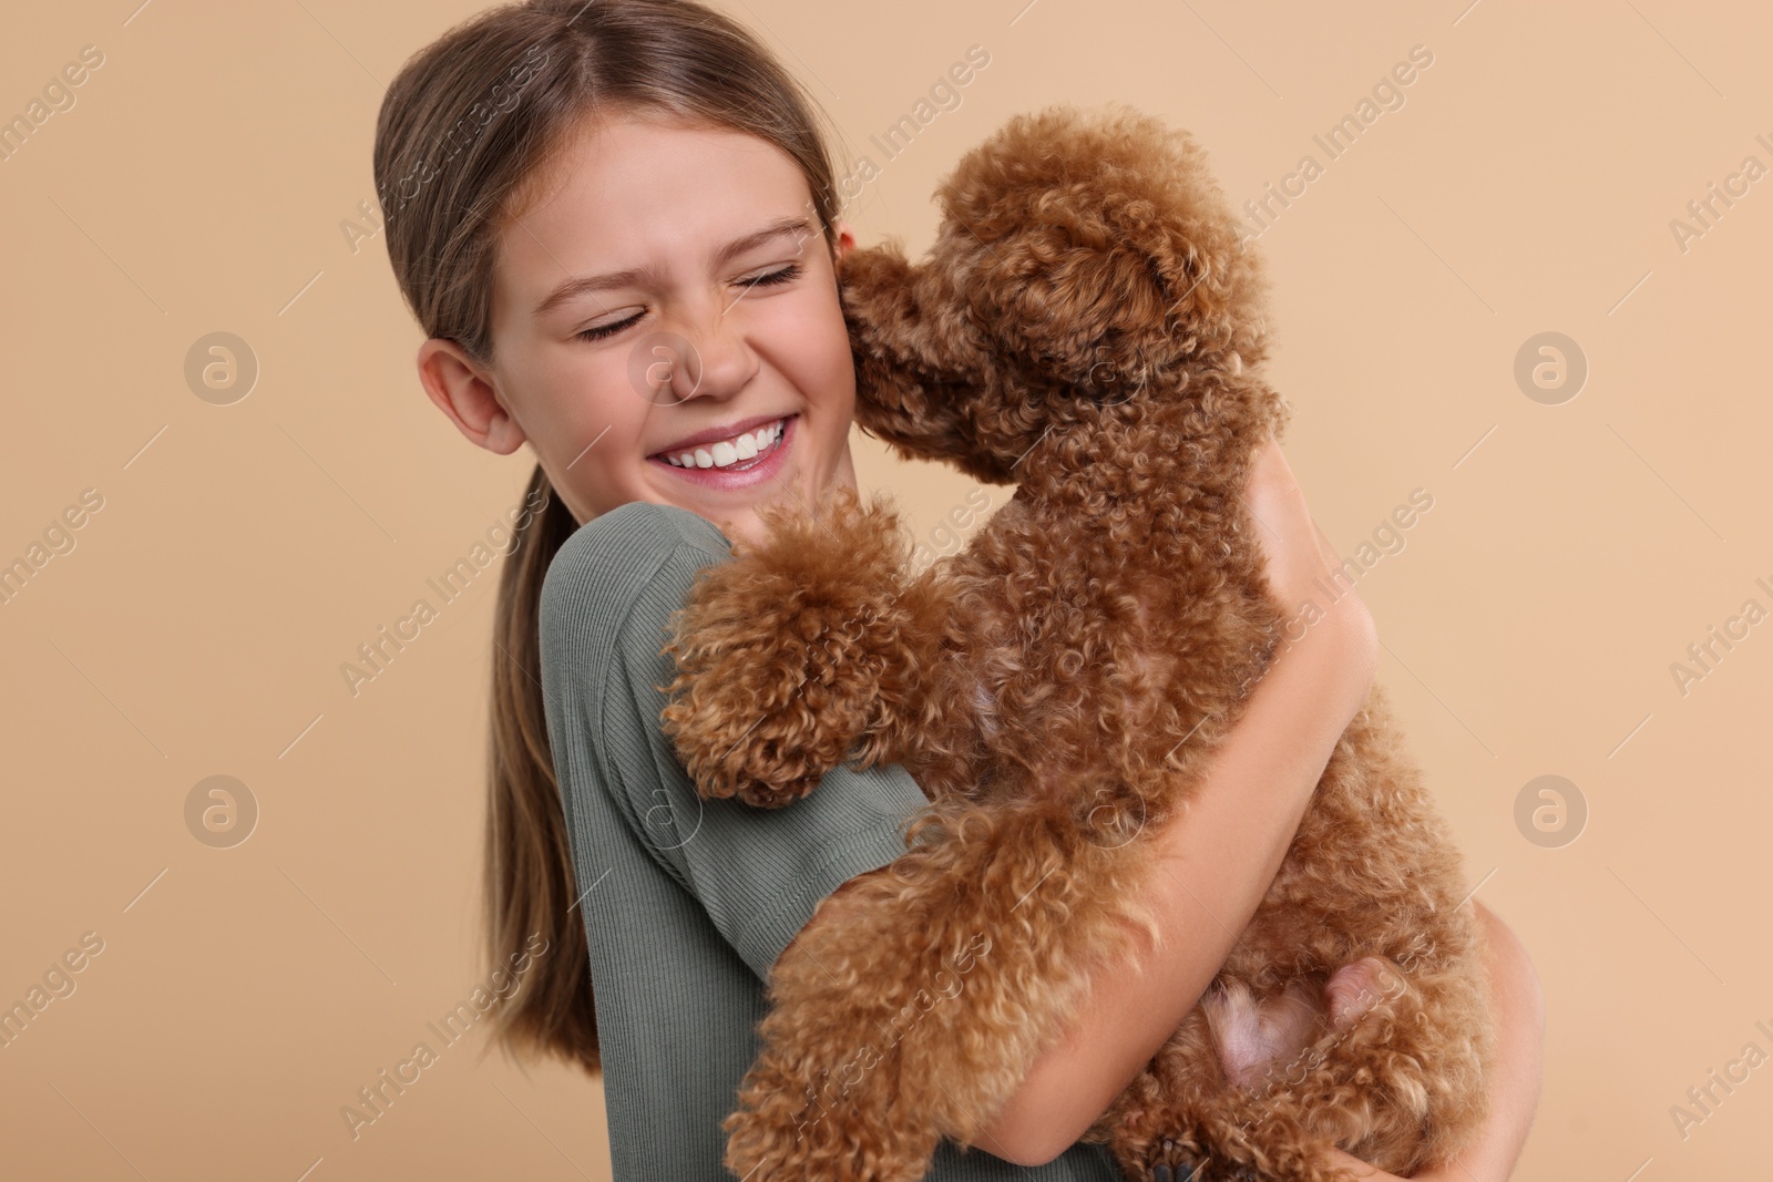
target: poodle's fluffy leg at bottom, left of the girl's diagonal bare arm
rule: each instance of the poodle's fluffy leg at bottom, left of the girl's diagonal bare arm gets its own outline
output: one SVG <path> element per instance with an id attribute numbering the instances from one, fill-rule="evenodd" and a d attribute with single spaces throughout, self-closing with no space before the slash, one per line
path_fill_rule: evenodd
<path id="1" fill-rule="evenodd" d="M 911 1182 L 941 1138 L 991 1148 L 984 1131 L 1090 973 L 1149 920 L 1149 863 L 1129 856 L 1144 845 L 1105 851 L 1064 812 L 938 803 L 906 854 L 819 904 L 769 975 L 729 1170 Z"/>

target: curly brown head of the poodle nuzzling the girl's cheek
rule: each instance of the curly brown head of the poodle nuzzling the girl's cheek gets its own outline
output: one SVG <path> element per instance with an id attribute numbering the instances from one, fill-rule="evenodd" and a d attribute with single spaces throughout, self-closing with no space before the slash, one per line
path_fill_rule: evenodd
<path id="1" fill-rule="evenodd" d="M 1122 105 L 1018 115 L 936 198 L 922 262 L 888 243 L 839 266 L 856 418 L 904 455 L 1014 482 L 1090 408 L 1266 356 L 1259 259 L 1186 131 Z"/>

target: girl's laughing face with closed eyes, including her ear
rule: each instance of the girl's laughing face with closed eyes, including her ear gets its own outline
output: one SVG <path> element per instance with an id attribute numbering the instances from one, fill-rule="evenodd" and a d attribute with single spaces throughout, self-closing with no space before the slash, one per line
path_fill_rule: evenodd
<path id="1" fill-rule="evenodd" d="M 757 540 L 759 505 L 855 487 L 835 268 L 780 149 L 617 113 L 527 191 L 498 237 L 493 365 L 449 340 L 418 351 L 463 434 L 528 441 L 580 523 L 638 500 Z"/>

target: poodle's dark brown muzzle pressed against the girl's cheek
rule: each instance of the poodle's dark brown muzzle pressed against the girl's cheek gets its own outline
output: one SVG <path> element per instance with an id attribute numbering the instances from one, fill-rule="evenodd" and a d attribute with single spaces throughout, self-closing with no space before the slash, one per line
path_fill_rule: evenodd
<path id="1" fill-rule="evenodd" d="M 908 459 L 949 461 L 1002 484 L 1009 475 L 979 455 L 966 431 L 966 404 L 986 385 L 991 360 L 941 278 L 911 266 L 895 241 L 839 259 L 856 422 Z"/>

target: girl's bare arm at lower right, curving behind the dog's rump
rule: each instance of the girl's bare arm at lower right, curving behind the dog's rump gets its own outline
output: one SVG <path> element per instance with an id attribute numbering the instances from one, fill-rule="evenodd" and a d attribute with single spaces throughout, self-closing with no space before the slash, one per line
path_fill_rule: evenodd
<path id="1" fill-rule="evenodd" d="M 1489 1118 L 1470 1148 L 1445 1164 L 1418 1170 L 1411 1175 L 1415 1182 L 1504 1182 L 1514 1171 L 1539 1106 L 1541 1042 L 1546 1030 L 1539 975 L 1514 932 L 1475 898 L 1472 906 L 1484 920 L 1489 1005 L 1496 1023 Z M 1399 1182 L 1397 1175 L 1376 1170 L 1342 1150 L 1332 1150 L 1332 1155 L 1362 1182 Z"/>

